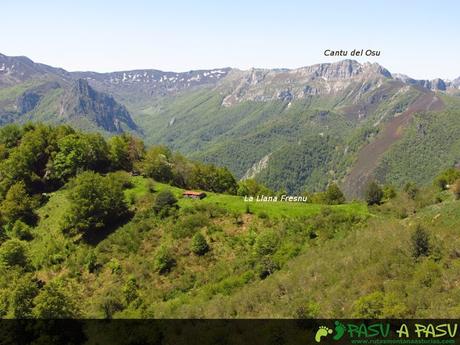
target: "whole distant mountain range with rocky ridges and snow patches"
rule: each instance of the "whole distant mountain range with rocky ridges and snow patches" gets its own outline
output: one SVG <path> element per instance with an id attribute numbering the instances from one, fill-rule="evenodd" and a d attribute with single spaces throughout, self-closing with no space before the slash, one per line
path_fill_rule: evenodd
<path id="1" fill-rule="evenodd" d="M 0 124 L 130 131 L 288 192 L 429 183 L 460 162 L 460 78 L 353 60 L 298 69 L 67 72 L 0 54 Z"/>

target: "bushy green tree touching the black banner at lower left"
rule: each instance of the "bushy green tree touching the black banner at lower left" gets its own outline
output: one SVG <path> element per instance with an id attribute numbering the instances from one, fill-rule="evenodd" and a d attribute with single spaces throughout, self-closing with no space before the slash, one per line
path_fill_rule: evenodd
<path id="1" fill-rule="evenodd" d="M 80 316 L 77 300 L 58 281 L 47 283 L 34 303 L 32 313 L 39 319 L 70 319 Z"/>

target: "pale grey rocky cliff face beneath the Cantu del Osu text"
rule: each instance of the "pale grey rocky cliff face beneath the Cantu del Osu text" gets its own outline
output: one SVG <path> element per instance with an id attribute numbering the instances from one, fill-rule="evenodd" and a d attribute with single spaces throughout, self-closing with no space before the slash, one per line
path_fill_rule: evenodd
<path id="1" fill-rule="evenodd" d="M 233 70 L 222 83 L 221 92 L 228 93 L 222 104 L 232 106 L 248 100 L 276 99 L 291 102 L 309 96 L 337 94 L 352 84 L 367 92 L 391 78 L 391 73 L 378 64 L 360 64 L 353 60 L 293 70 Z"/>

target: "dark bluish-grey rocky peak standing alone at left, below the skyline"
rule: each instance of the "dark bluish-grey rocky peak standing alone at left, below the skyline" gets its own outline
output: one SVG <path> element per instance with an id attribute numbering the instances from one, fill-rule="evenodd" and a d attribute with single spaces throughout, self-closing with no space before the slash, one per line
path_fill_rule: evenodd
<path id="1" fill-rule="evenodd" d="M 137 125 L 123 105 L 112 96 L 94 90 L 83 79 L 78 79 L 66 95 L 61 115 L 86 117 L 109 132 L 122 132 L 123 126 L 137 130 Z"/>

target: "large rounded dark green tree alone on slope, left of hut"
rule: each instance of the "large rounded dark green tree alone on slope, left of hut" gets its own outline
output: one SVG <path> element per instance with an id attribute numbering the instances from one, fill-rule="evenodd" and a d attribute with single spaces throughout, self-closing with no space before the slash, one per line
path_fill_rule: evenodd
<path id="1" fill-rule="evenodd" d="M 116 179 L 92 171 L 79 174 L 70 183 L 70 210 L 64 229 L 87 232 L 113 224 L 127 214 L 123 188 Z"/>

